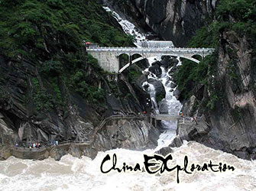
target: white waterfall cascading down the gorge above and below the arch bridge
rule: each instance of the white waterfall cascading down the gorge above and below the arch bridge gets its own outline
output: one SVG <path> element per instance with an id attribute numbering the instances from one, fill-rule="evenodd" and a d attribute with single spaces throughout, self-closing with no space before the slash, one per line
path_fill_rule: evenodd
<path id="1" fill-rule="evenodd" d="M 159 41 L 144 41 L 146 39 L 147 34 L 143 34 L 140 31 L 138 31 L 134 24 L 132 24 L 130 21 L 125 20 L 124 18 L 121 18 L 120 15 L 118 15 L 115 11 L 112 11 L 109 7 L 103 7 L 105 11 L 112 12 L 113 17 L 118 21 L 119 24 L 121 24 L 123 30 L 126 34 L 131 34 L 135 38 L 135 45 L 137 47 L 159 47 Z M 167 47 L 173 47 L 173 43 L 171 41 L 166 41 L 165 46 Z M 179 58 L 178 58 L 179 59 Z M 160 60 L 160 57 L 151 57 L 147 59 L 150 63 L 150 66 L 152 66 L 152 63 L 154 63 L 157 60 Z M 179 59 L 179 64 L 181 64 Z M 149 66 L 149 67 L 150 67 Z M 178 115 L 178 112 L 180 111 L 181 104 L 177 99 L 173 96 L 172 89 L 170 87 L 170 84 L 172 83 L 169 76 L 169 71 L 171 68 L 166 71 L 163 66 L 161 66 L 162 70 L 162 76 L 157 78 L 157 76 L 154 73 L 151 73 L 148 68 L 144 70 L 144 73 L 149 73 L 148 78 L 157 79 L 160 80 L 160 82 L 163 84 L 164 89 L 166 91 L 166 97 L 165 101 L 167 102 L 168 107 L 168 114 L 169 115 Z M 148 86 L 147 90 L 144 89 L 144 86 Z M 144 82 L 142 84 L 142 88 L 147 91 L 151 95 L 151 103 L 155 114 L 160 114 L 158 103 L 156 99 L 156 92 L 155 88 L 151 83 Z M 177 121 L 161 121 L 163 127 L 165 128 L 165 131 L 163 134 L 160 135 L 160 139 L 158 141 L 158 147 L 168 146 L 170 142 L 173 140 L 173 138 L 176 135 L 176 128 L 177 128 Z"/>

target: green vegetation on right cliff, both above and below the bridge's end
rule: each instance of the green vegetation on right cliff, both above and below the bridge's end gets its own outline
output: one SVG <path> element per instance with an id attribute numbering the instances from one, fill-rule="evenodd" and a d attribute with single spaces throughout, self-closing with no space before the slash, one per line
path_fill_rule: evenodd
<path id="1" fill-rule="evenodd" d="M 224 31 L 235 31 L 240 37 L 246 37 L 253 55 L 256 55 L 256 6 L 253 0 L 220 0 L 215 11 L 215 21 L 199 29 L 190 40 L 189 47 L 215 47 L 215 53 L 206 57 L 203 62 L 196 64 L 189 60 L 183 61 L 175 79 L 183 97 L 189 99 L 193 94 L 193 87 L 202 84 L 209 92 L 209 98 L 203 100 L 203 105 L 210 110 L 215 109 L 218 102 L 222 102 L 222 83 L 215 79 L 218 50 L 223 46 Z M 225 47 L 231 58 L 228 63 L 228 78 L 232 82 L 232 90 L 241 92 L 241 77 L 238 73 L 237 58 L 231 47 Z M 252 64 L 253 65 L 253 64 Z M 252 85 L 254 86 L 254 85 Z"/>

